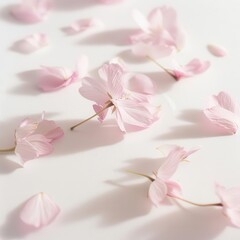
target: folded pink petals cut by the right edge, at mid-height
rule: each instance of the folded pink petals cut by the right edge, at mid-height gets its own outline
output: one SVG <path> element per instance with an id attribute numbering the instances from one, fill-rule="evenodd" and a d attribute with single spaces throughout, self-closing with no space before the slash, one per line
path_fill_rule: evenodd
<path id="1" fill-rule="evenodd" d="M 235 134 L 240 126 L 240 106 L 225 92 L 211 96 L 204 114 L 229 134 Z"/>

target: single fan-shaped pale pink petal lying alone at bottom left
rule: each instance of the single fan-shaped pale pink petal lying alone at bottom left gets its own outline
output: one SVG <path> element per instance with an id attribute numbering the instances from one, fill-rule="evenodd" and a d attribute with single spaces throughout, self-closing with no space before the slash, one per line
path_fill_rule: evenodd
<path id="1" fill-rule="evenodd" d="M 51 223 L 60 213 L 60 208 L 46 193 L 38 193 L 24 205 L 20 219 L 27 225 L 40 228 Z"/>

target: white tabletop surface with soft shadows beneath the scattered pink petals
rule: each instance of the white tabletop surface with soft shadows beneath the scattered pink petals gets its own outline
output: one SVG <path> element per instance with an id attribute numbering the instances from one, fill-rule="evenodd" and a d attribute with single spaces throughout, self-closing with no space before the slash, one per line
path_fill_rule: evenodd
<path id="1" fill-rule="evenodd" d="M 215 202 L 216 181 L 227 187 L 240 185 L 239 136 L 217 136 L 201 127 L 201 112 L 209 95 L 224 90 L 240 102 L 239 1 L 126 0 L 105 6 L 93 0 L 56 0 L 48 19 L 32 25 L 9 15 L 9 6 L 16 2 L 0 3 L 0 145 L 12 146 L 19 122 L 43 110 L 65 130 L 65 137 L 55 143 L 52 155 L 30 161 L 24 168 L 10 161 L 14 156 L 0 156 L 0 239 L 240 239 L 239 229 L 228 226 L 220 209 L 182 203 L 153 207 L 147 198 L 149 182 L 123 171 L 151 174 L 161 165 L 159 145 L 201 145 L 174 175 L 184 196 L 196 202 Z M 206 73 L 175 82 L 154 64 L 137 61 L 129 53 L 125 43 L 136 27 L 132 10 L 147 14 L 163 4 L 176 9 L 188 33 L 179 60 L 210 60 Z M 106 27 L 75 36 L 61 30 L 88 17 L 102 19 Z M 11 48 L 34 32 L 46 33 L 49 46 L 29 55 Z M 211 56 L 206 50 L 208 43 L 225 46 L 229 55 L 222 59 Z M 73 68 L 82 53 L 90 57 L 90 74 L 115 56 L 121 56 L 132 71 L 148 73 L 158 89 L 155 102 L 162 106 L 161 119 L 147 130 L 125 135 L 116 125 L 109 127 L 109 121 L 100 125 L 96 119 L 70 132 L 78 119 L 93 113 L 92 103 L 78 94 L 80 83 L 42 93 L 28 71 L 40 65 Z M 175 110 L 163 94 L 175 102 Z M 26 231 L 19 224 L 19 210 L 40 191 L 49 194 L 62 211 L 46 228 Z"/>

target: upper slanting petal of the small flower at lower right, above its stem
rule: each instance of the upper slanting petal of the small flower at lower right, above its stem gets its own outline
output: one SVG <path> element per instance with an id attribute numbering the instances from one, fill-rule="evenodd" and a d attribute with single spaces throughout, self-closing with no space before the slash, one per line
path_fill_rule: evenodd
<path id="1" fill-rule="evenodd" d="M 187 151 L 183 147 L 174 147 L 166 157 L 164 163 L 157 171 L 157 176 L 161 179 L 169 179 L 177 170 L 178 165 L 181 161 L 186 159 L 189 155 L 196 152 L 199 148 L 194 148 Z"/>

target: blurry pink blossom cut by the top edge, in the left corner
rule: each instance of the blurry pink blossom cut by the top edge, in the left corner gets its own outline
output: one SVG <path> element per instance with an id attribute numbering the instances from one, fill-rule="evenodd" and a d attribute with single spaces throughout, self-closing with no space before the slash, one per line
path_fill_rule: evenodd
<path id="1" fill-rule="evenodd" d="M 22 0 L 21 4 L 11 9 L 11 13 L 23 22 L 39 22 L 45 19 L 50 5 L 50 0 Z"/>

